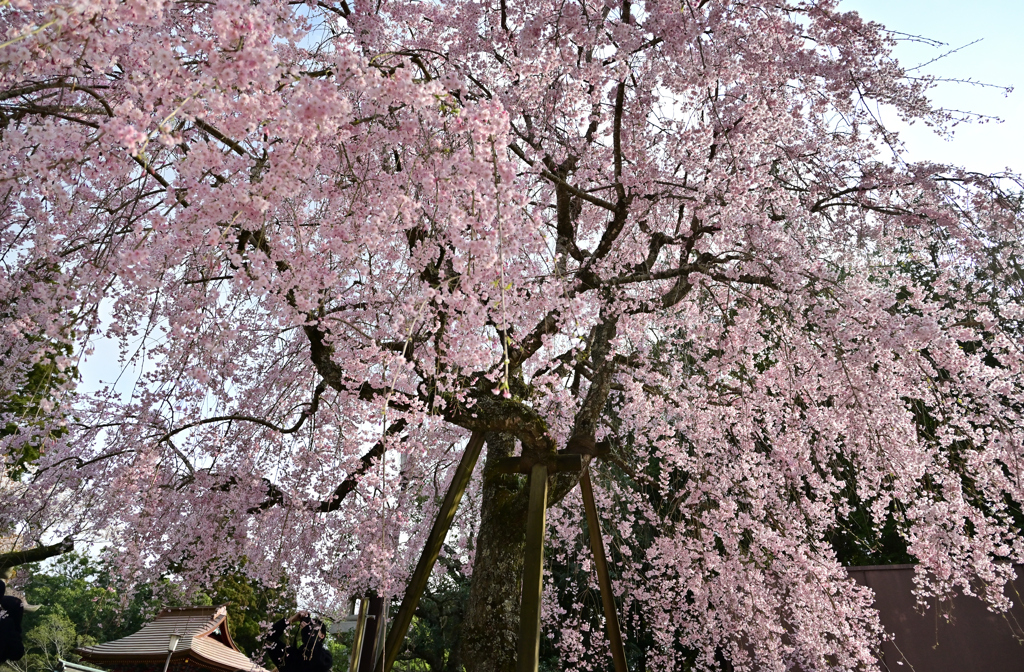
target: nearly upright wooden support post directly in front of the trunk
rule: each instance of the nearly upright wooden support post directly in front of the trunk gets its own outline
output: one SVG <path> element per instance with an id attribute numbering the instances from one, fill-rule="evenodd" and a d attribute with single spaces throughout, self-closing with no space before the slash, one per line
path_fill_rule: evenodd
<path id="1" fill-rule="evenodd" d="M 535 464 L 529 472 L 526 553 L 522 565 L 519 647 L 516 672 L 537 672 L 541 657 L 541 593 L 544 590 L 544 527 L 548 515 L 548 467 Z"/>

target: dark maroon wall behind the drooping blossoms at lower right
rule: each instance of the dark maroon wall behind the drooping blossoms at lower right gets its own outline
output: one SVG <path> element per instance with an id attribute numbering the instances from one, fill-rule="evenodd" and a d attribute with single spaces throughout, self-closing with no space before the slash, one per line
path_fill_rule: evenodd
<path id="1" fill-rule="evenodd" d="M 883 644 L 882 670 L 1024 672 L 1024 568 L 1017 568 L 1017 581 L 1008 593 L 1014 605 L 1007 614 L 993 614 L 978 598 L 964 595 L 921 614 L 910 592 L 912 565 L 849 571 L 874 591 L 882 625 L 895 636 Z"/>

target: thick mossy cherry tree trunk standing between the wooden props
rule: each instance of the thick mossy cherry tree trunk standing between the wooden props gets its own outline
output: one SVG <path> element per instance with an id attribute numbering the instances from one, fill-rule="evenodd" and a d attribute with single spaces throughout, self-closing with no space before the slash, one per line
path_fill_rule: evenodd
<path id="1" fill-rule="evenodd" d="M 486 446 L 484 473 L 515 453 L 511 434 L 488 434 Z M 467 672 L 515 672 L 528 495 L 521 476 L 484 476 L 473 582 L 462 626 Z"/>

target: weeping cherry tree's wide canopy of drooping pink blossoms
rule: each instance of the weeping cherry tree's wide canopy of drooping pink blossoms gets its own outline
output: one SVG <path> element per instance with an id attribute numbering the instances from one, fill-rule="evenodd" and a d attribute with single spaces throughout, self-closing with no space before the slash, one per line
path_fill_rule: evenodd
<path id="1" fill-rule="evenodd" d="M 0 28 L 0 401 L 97 339 L 136 378 L 0 409 L 0 527 L 109 543 L 129 584 L 245 558 L 340 613 L 400 593 L 481 431 L 487 465 L 595 471 L 644 666 L 867 666 L 843 562 L 878 540 L 923 594 L 1006 606 L 1021 180 L 908 160 L 883 113 L 961 119 L 883 27 L 835 0 L 7 0 Z M 585 571 L 546 618 L 594 669 L 577 477 L 548 543 Z M 483 473 L 450 539 L 471 672 L 514 660 L 525 498 Z"/>

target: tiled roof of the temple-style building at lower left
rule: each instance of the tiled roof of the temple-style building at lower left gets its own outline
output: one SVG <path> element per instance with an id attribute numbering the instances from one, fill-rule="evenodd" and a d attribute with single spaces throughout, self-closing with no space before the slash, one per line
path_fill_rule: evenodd
<path id="1" fill-rule="evenodd" d="M 266 672 L 236 647 L 227 631 L 227 607 L 183 606 L 164 610 L 135 634 L 78 649 L 83 661 L 100 665 L 161 663 L 171 634 L 181 635 L 172 662 L 188 661 L 216 672 Z"/>

